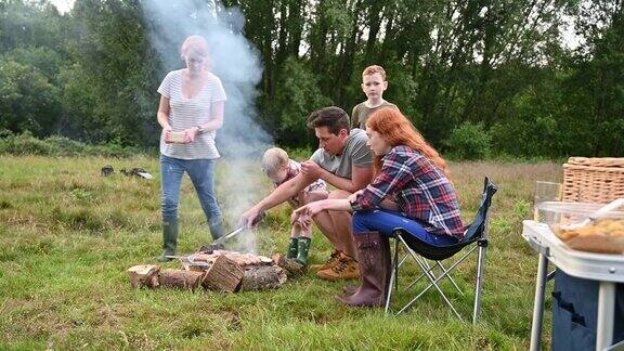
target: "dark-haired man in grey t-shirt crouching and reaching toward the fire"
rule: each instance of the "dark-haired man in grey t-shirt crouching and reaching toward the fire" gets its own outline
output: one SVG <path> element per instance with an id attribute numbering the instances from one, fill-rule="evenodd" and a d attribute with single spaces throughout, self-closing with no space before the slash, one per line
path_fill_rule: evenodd
<path id="1" fill-rule="evenodd" d="M 366 132 L 349 130 L 349 115 L 339 107 L 325 107 L 308 117 L 308 127 L 314 129 L 320 148 L 310 160 L 301 164 L 301 172 L 277 186 L 240 217 L 251 225 L 259 213 L 287 202 L 318 179 L 336 187 L 328 198 L 347 198 L 364 188 L 373 180 L 373 158 L 366 145 Z M 360 270 L 355 261 L 351 213 L 348 211 L 323 211 L 314 223 L 334 246 L 329 260 L 310 270 L 329 281 L 358 278 Z"/>

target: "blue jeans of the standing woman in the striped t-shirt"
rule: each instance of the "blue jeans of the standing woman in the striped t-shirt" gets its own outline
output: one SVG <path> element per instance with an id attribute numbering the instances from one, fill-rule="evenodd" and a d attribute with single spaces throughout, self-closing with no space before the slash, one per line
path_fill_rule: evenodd
<path id="1" fill-rule="evenodd" d="M 213 238 L 222 236 L 221 209 L 214 196 L 214 160 L 212 159 L 179 159 L 160 155 L 162 221 L 178 220 L 180 186 L 184 172 L 188 174 L 195 186 L 210 234 Z"/>

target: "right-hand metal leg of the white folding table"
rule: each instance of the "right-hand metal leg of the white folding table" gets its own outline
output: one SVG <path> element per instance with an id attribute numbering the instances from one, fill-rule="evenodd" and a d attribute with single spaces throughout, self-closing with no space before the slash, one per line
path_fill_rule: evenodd
<path id="1" fill-rule="evenodd" d="M 613 342 L 613 317 L 615 311 L 615 283 L 600 282 L 598 290 L 598 326 L 596 350 L 602 351 Z"/>

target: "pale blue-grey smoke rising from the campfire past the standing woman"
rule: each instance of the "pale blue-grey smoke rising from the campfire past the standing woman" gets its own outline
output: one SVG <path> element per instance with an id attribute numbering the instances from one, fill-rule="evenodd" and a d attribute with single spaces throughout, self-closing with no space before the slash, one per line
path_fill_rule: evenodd
<path id="1" fill-rule="evenodd" d="M 262 66 L 257 50 L 243 35 L 245 17 L 237 8 L 223 8 L 214 0 L 147 0 L 142 6 L 151 44 L 162 64 L 161 78 L 184 67 L 180 46 L 186 37 L 200 35 L 208 41 L 211 70 L 221 78 L 227 95 L 223 128 L 217 132 L 223 156 L 217 166 L 217 187 L 222 190 L 217 196 L 225 220 L 235 225 L 258 199 L 261 181 L 266 183 L 258 179 L 259 169 L 250 168 L 249 160 L 258 160 L 272 141 L 256 122 L 253 102 Z M 256 251 L 255 245 L 250 240 L 246 249 Z"/>

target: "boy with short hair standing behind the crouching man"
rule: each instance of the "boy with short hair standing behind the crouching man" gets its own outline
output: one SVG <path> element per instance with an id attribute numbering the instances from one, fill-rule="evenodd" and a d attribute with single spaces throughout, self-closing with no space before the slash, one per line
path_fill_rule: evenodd
<path id="1" fill-rule="evenodd" d="M 386 70 L 381 66 L 373 65 L 364 68 L 362 73 L 362 90 L 366 94 L 366 101 L 353 107 L 351 114 L 351 127 L 366 130 L 368 116 L 381 107 L 399 109 L 396 105 L 384 100 L 384 91 L 388 89 Z"/>

